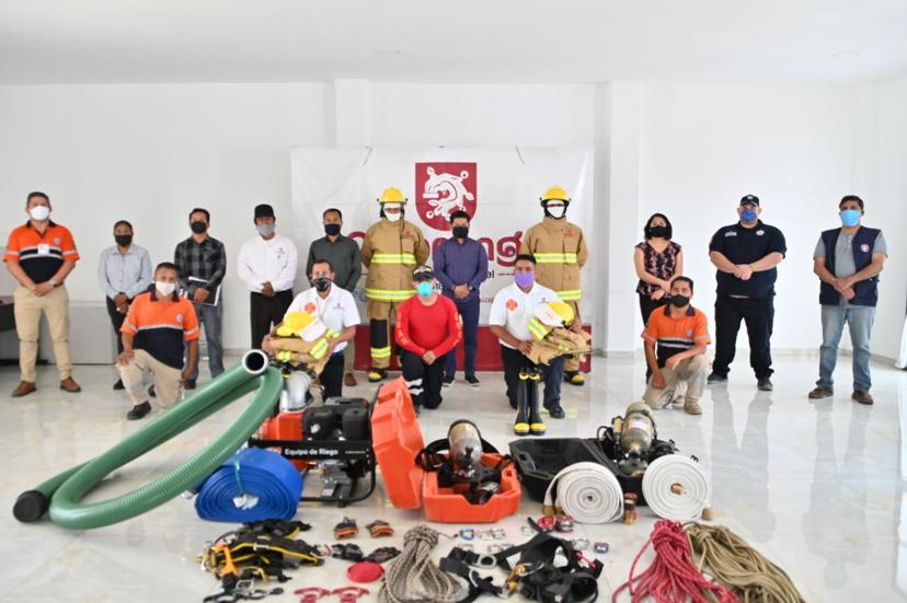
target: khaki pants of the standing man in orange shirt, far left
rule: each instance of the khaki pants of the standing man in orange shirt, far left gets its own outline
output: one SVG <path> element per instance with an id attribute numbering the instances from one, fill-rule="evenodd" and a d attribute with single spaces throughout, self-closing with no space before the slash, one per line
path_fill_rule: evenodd
<path id="1" fill-rule="evenodd" d="M 38 297 L 20 287 L 13 293 L 15 305 L 15 332 L 19 334 L 19 370 L 22 381 L 34 383 L 37 343 L 41 334 L 41 314 L 47 316 L 50 338 L 54 340 L 54 358 L 60 381 L 72 375 L 69 360 L 69 293 L 65 286 L 55 287 Z"/>

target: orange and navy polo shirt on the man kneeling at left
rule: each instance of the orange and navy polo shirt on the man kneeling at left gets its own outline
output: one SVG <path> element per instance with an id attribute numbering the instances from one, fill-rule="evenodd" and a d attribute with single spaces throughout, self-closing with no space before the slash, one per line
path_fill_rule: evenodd
<path id="1" fill-rule="evenodd" d="M 182 369 L 184 341 L 198 339 L 202 333 L 192 302 L 176 293 L 171 299 L 170 303 L 160 301 L 157 289 L 136 295 L 119 331 L 135 336 L 133 348 L 147 351 L 168 367 Z"/>

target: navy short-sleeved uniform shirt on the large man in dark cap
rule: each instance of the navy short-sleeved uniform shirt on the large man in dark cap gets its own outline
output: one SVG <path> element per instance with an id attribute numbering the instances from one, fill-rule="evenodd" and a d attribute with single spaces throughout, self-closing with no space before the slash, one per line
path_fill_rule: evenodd
<path id="1" fill-rule="evenodd" d="M 753 264 L 770 253 L 784 255 L 788 246 L 780 230 L 759 220 L 751 229 L 742 227 L 739 222 L 719 229 L 712 236 L 709 251 L 723 254 L 732 264 Z M 778 269 L 753 272 L 749 280 L 717 270 L 716 278 L 719 295 L 765 299 L 774 295 Z"/>

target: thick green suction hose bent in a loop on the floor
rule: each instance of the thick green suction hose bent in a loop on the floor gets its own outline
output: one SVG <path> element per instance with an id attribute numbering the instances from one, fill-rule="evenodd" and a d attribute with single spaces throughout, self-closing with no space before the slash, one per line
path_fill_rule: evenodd
<path id="1" fill-rule="evenodd" d="M 69 468 L 19 496 L 13 515 L 22 522 L 39 520 L 50 510 L 57 525 L 85 530 L 140 515 L 197 486 L 254 433 L 280 395 L 280 372 L 268 367 L 259 350 L 104 454 Z M 190 427 L 257 389 L 252 402 L 217 440 L 169 474 L 130 492 L 102 502 L 80 503 L 111 472 L 161 445 Z"/>

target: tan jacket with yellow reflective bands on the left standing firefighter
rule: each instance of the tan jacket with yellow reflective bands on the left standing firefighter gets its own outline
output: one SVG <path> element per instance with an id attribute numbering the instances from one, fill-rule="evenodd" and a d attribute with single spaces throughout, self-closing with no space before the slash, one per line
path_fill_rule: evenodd
<path id="1" fill-rule="evenodd" d="M 368 268 L 366 297 L 383 302 L 412 298 L 413 270 L 427 259 L 428 242 L 418 227 L 404 219 L 391 222 L 381 218 L 363 241 L 363 264 Z"/>

